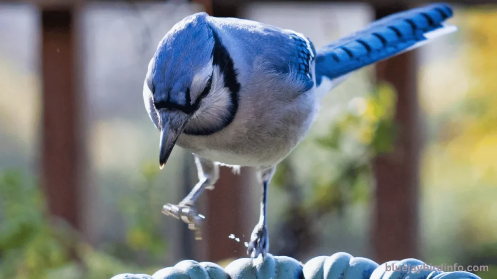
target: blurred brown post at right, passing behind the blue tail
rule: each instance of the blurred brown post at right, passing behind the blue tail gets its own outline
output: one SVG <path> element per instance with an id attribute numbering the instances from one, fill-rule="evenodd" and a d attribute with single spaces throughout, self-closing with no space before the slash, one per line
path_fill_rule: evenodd
<path id="1" fill-rule="evenodd" d="M 405 10 L 398 4 L 376 7 L 376 16 Z M 375 260 L 418 256 L 419 107 L 417 99 L 416 52 L 411 51 L 378 63 L 377 80 L 397 91 L 395 121 L 397 142 L 392 153 L 374 159 L 376 205 L 373 239 Z"/>

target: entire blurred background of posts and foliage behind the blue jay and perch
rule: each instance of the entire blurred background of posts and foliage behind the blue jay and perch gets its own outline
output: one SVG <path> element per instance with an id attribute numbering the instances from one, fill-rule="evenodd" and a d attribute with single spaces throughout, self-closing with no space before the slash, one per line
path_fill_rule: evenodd
<path id="1" fill-rule="evenodd" d="M 270 253 L 488 265 L 497 278 L 497 5 L 332 90 L 269 190 Z M 316 48 L 418 0 L 1 0 L 0 278 L 108 279 L 246 256 L 261 186 L 223 168 L 203 240 L 161 213 L 197 182 L 158 164 L 143 104 L 159 41 L 198 11 L 306 34 Z"/>

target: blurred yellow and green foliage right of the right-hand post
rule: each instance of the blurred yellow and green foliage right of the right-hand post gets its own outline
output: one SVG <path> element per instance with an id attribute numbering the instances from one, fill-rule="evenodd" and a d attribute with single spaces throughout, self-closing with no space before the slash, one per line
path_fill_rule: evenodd
<path id="1" fill-rule="evenodd" d="M 459 13 L 464 43 L 457 57 L 464 70 L 446 73 L 466 92 L 430 115 L 435 121 L 424 156 L 423 192 L 431 238 L 425 242 L 432 245 L 426 254 L 436 263 L 491 265 L 490 272 L 478 274 L 491 279 L 497 276 L 497 11 L 482 6 Z"/>

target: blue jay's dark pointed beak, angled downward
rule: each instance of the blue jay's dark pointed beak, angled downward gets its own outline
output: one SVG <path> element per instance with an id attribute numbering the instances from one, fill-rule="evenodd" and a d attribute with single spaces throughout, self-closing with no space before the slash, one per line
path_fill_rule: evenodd
<path id="1" fill-rule="evenodd" d="M 188 115 L 182 112 L 159 111 L 161 117 L 161 142 L 159 153 L 159 164 L 161 169 L 167 162 L 172 148 L 179 135 L 183 132 L 188 123 Z"/>

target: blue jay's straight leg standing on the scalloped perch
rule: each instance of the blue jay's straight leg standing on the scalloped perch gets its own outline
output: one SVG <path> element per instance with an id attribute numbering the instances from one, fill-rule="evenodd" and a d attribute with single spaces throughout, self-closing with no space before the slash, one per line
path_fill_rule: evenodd
<path id="1" fill-rule="evenodd" d="M 269 232 L 267 230 L 266 221 L 267 186 L 275 170 L 276 167 L 271 167 L 263 169 L 260 173 L 262 180 L 262 198 L 260 202 L 259 222 L 253 228 L 247 250 L 247 254 L 253 259 L 257 258 L 259 255 L 262 255 L 262 258 L 264 258 L 269 250 Z"/>

